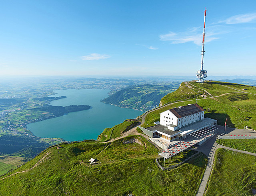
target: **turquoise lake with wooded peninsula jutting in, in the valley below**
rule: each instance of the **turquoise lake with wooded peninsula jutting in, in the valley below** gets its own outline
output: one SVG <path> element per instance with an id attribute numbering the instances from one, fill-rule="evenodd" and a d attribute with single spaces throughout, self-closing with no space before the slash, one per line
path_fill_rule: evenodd
<path id="1" fill-rule="evenodd" d="M 56 90 L 54 97 L 67 98 L 50 102 L 52 106 L 89 105 L 90 110 L 71 112 L 64 116 L 28 124 L 28 129 L 38 137 L 60 137 L 67 141 L 97 139 L 106 127 L 113 127 L 126 119 L 136 118 L 144 112 L 104 104 L 110 90 L 69 89 Z"/>

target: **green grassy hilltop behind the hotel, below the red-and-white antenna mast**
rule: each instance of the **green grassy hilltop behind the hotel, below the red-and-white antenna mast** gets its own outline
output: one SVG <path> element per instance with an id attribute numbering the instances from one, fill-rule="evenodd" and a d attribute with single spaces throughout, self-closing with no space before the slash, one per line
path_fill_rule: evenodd
<path id="1" fill-rule="evenodd" d="M 242 90 L 242 88 L 247 90 Z M 188 92 L 191 92 L 192 96 Z M 199 94 L 204 94 L 206 98 Z M 179 101 L 180 98 L 187 99 L 179 103 L 174 102 L 174 100 Z M 244 128 L 247 125 L 256 129 L 256 87 L 254 86 L 218 81 L 209 81 L 204 84 L 183 82 L 178 90 L 164 96 L 161 102 L 162 104 L 174 103 L 146 115 L 143 127 L 152 126 L 154 122 L 159 121 L 161 112 L 197 103 L 204 108 L 205 117 L 218 120 L 220 125 L 224 125 L 227 119 L 229 127 Z"/>

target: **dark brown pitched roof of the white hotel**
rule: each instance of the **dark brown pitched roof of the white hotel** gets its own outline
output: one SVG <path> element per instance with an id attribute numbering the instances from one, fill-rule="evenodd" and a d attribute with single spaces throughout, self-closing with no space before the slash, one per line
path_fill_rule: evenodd
<path id="1" fill-rule="evenodd" d="M 177 118 L 181 118 L 202 111 L 204 111 L 204 109 L 198 104 L 191 104 L 187 106 L 182 106 L 180 108 L 170 109 L 170 112 L 172 112 L 172 114 L 174 114 Z"/>

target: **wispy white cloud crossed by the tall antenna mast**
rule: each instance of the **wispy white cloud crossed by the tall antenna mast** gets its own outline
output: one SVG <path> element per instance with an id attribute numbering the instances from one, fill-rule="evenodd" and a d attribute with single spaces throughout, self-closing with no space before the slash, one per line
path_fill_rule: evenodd
<path id="1" fill-rule="evenodd" d="M 193 42 L 196 45 L 202 45 L 202 33 L 198 32 L 198 27 L 194 27 L 189 29 L 188 31 L 174 33 L 170 31 L 168 34 L 160 35 L 161 41 L 170 41 L 171 43 L 186 43 L 186 42 Z M 218 37 L 213 37 L 217 33 L 206 33 L 205 42 L 210 42 L 214 39 L 218 39 Z"/>

